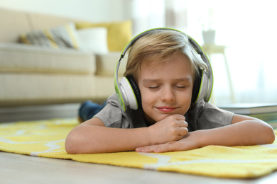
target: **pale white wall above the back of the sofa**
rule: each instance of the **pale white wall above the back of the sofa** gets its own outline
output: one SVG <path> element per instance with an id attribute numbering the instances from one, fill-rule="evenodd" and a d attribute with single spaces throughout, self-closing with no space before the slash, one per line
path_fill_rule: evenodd
<path id="1" fill-rule="evenodd" d="M 129 2 L 129 0 L 0 0 L 0 7 L 87 21 L 124 21 L 129 19 Z"/>

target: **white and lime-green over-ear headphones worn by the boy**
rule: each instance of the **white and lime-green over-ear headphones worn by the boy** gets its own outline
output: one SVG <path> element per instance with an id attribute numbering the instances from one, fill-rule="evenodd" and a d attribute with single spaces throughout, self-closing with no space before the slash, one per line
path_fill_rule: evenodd
<path id="1" fill-rule="evenodd" d="M 116 64 L 116 69 L 114 71 L 114 88 L 116 91 L 116 96 L 121 105 L 121 109 L 124 111 L 126 111 L 127 107 L 133 110 L 137 110 L 141 108 L 141 93 L 139 91 L 139 86 L 136 84 L 136 81 L 134 81 L 133 76 L 124 76 L 119 83 L 118 71 L 119 71 L 119 65 L 120 65 L 121 59 L 124 58 L 124 55 L 129 50 L 129 48 L 134 44 L 134 42 L 136 42 L 136 40 L 139 40 L 139 38 L 143 37 L 144 35 L 151 33 L 153 30 L 175 30 L 175 29 L 154 28 L 151 30 L 146 30 L 143 33 L 140 33 L 139 35 L 136 35 L 136 37 L 134 37 L 124 47 L 124 50 L 121 52 L 121 57 Z M 179 33 L 183 33 L 180 30 L 175 30 L 175 31 L 178 31 Z M 186 35 L 185 33 L 183 34 Z M 198 45 L 198 43 L 195 42 L 195 40 L 190 38 L 190 36 L 188 36 L 188 40 L 192 45 L 192 47 L 197 52 L 197 54 L 200 54 L 201 59 L 205 62 L 205 64 L 207 64 L 207 67 L 208 67 L 207 71 L 203 71 L 199 69 L 200 76 L 197 76 L 195 78 L 195 83 L 193 85 L 192 103 L 197 103 L 202 99 L 204 99 L 205 102 L 208 102 L 212 95 L 212 86 L 213 86 L 212 67 L 207 55 L 203 52 L 200 45 Z"/>

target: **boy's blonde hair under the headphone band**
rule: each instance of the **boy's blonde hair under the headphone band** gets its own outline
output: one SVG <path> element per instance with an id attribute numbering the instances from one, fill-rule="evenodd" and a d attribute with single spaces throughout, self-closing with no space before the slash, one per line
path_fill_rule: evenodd
<path id="1" fill-rule="evenodd" d="M 153 30 L 131 46 L 124 76 L 134 76 L 134 80 L 137 81 L 141 64 L 158 61 L 158 65 L 176 52 L 188 57 L 194 79 L 199 75 L 199 69 L 207 70 L 207 64 L 190 45 L 187 35 L 175 30 Z"/>

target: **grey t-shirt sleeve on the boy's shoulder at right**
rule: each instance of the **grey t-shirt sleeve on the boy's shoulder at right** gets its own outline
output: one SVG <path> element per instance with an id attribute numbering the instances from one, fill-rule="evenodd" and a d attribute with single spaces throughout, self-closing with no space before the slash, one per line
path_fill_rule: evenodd
<path id="1" fill-rule="evenodd" d="M 204 100 L 196 103 L 187 114 L 189 130 L 207 130 L 231 125 L 234 113 L 217 108 Z"/>

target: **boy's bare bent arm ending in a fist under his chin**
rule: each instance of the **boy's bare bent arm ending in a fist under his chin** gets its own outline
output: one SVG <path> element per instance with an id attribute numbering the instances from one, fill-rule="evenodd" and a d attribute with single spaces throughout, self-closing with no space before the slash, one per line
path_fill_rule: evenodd
<path id="1" fill-rule="evenodd" d="M 121 129 L 105 127 L 93 117 L 75 127 L 65 140 L 69 154 L 92 154 L 131 151 L 139 146 L 177 141 L 188 134 L 188 123 L 183 115 L 172 115 L 151 127 Z"/>

